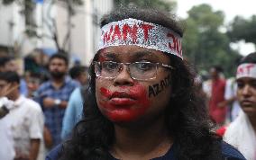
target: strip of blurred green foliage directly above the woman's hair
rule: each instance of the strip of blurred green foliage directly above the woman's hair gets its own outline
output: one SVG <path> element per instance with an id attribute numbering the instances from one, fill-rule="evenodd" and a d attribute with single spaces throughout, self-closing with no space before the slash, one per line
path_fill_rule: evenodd
<path id="1" fill-rule="evenodd" d="M 174 11 L 176 9 L 176 1 L 166 1 L 166 0 L 114 0 L 115 6 L 120 5 L 136 5 L 139 7 L 153 7 L 164 11 Z"/>

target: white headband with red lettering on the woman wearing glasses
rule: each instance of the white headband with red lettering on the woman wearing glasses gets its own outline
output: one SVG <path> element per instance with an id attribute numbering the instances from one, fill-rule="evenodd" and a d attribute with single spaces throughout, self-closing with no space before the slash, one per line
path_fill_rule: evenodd
<path id="1" fill-rule="evenodd" d="M 136 45 L 182 58 L 181 37 L 175 31 L 159 24 L 129 18 L 110 22 L 101 30 L 98 50 L 110 46 Z"/>

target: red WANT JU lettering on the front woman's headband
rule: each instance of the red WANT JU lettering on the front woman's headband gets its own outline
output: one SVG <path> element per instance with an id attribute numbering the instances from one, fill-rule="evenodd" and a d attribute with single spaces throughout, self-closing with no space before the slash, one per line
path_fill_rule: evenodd
<path id="1" fill-rule="evenodd" d="M 165 48 L 175 51 L 179 57 L 182 57 L 181 40 L 173 34 L 173 31 L 164 31 L 158 35 L 159 28 L 159 26 L 147 23 L 113 24 L 107 31 L 102 32 L 103 45 L 112 43 L 114 40 L 129 41 L 129 44 L 132 42 L 132 44 L 142 44 L 142 46 L 157 45 L 161 42 Z"/>

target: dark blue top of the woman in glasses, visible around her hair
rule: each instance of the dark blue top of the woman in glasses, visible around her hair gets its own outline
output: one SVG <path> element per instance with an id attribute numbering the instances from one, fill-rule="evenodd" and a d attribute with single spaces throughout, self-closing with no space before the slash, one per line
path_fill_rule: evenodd
<path id="1" fill-rule="evenodd" d="M 166 153 L 166 155 L 156 157 L 151 160 L 177 160 L 177 158 L 174 157 L 174 153 L 173 153 L 174 149 L 175 149 L 175 145 L 170 147 L 170 149 Z M 61 145 L 53 148 L 50 151 L 49 155 L 46 156 L 46 160 L 58 160 L 60 151 L 61 151 Z M 229 145 L 225 142 L 222 143 L 222 154 L 223 154 L 225 160 L 246 160 L 237 149 L 235 149 L 234 147 L 232 147 L 231 145 Z M 113 160 L 117 160 L 117 159 L 115 159 L 113 157 Z"/>

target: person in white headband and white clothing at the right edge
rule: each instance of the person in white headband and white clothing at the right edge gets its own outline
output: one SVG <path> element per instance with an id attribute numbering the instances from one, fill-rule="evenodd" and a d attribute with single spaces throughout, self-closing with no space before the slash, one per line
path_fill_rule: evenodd
<path id="1" fill-rule="evenodd" d="M 224 140 L 247 160 L 256 159 L 256 52 L 242 58 L 236 72 L 237 100 L 242 107 L 227 127 Z"/>

